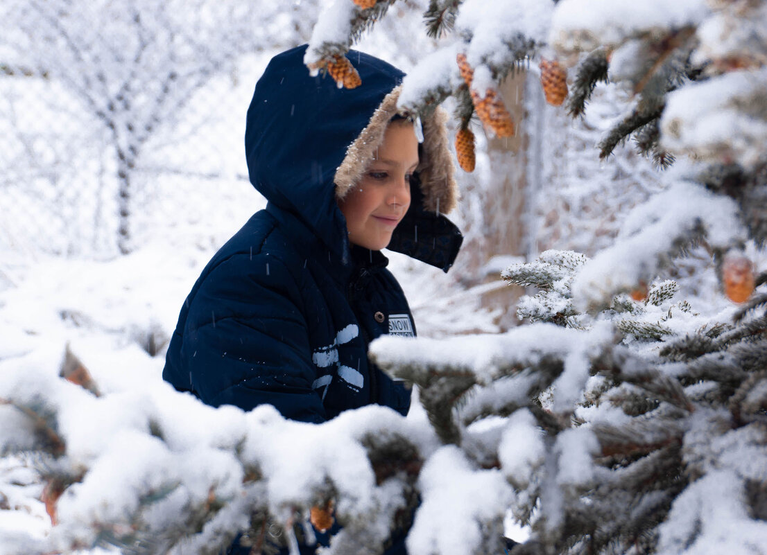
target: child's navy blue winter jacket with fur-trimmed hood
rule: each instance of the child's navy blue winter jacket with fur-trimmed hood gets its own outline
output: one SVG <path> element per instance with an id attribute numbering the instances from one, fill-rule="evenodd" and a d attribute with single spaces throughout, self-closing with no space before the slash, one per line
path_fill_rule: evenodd
<path id="1" fill-rule="evenodd" d="M 413 318 L 384 255 L 349 244 L 337 205 L 398 113 L 403 74 L 351 51 L 362 85 L 339 89 L 310 76 L 304 51 L 274 57 L 258 80 L 245 151 L 268 205 L 202 271 L 163 378 L 212 406 L 268 403 L 306 422 L 370 403 L 404 415 L 409 389 L 368 362 L 367 346 L 383 333 L 414 334 Z M 441 117 L 423 121 L 410 210 L 390 248 L 447 271 L 462 238 L 441 215 L 455 204 Z"/>

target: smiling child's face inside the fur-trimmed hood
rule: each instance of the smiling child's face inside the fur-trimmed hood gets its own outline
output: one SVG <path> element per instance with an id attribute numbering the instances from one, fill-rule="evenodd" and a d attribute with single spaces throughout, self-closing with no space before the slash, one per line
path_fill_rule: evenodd
<path id="1" fill-rule="evenodd" d="M 389 245 L 410 206 L 410 176 L 416 166 L 418 140 L 413 123 L 393 121 L 360 181 L 338 202 L 352 245 L 374 251 Z"/>

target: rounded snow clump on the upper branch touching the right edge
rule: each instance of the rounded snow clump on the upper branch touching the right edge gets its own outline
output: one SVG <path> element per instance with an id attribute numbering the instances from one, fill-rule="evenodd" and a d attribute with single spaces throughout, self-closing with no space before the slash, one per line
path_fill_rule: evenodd
<path id="1" fill-rule="evenodd" d="M 661 146 L 701 160 L 755 166 L 764 161 L 765 106 L 767 67 L 687 84 L 668 94 Z"/>

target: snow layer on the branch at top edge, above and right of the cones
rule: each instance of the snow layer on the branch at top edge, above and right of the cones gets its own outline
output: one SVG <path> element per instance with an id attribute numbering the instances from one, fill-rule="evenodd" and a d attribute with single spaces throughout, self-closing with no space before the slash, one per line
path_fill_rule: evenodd
<path id="1" fill-rule="evenodd" d="M 561 0 L 549 44 L 565 53 L 614 48 L 645 34 L 696 25 L 710 13 L 706 0 Z"/>

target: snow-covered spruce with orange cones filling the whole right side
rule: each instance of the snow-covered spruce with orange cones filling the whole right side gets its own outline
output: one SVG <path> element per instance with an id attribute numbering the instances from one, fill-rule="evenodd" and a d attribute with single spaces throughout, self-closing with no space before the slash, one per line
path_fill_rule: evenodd
<path id="1" fill-rule="evenodd" d="M 767 275 L 745 254 L 767 238 L 767 5 L 434 0 L 426 23 L 453 40 L 407 77 L 404 107 L 421 113 L 453 96 L 459 129 L 475 112 L 502 134 L 513 122 L 488 110 L 495 84 L 540 60 L 547 97 L 560 103 L 562 68 L 577 66 L 573 115 L 601 80 L 626 97 L 600 156 L 631 138 L 659 166 L 673 163 L 667 189 L 591 261 L 549 252 L 507 271 L 542 287 L 521 314 L 545 323 L 374 343 L 380 366 L 420 386 L 445 444 L 432 460 L 512 484 L 510 507 L 533 532 L 512 553 L 767 552 L 767 293 L 755 289 Z M 313 44 L 321 50 L 321 37 Z M 642 302 L 627 296 L 644 297 L 691 245 L 712 253 L 724 292 L 743 303 L 732 320 L 664 306 L 667 282 Z M 666 316 L 648 326 L 660 307 Z M 438 483 L 431 470 L 422 483 Z M 455 552 L 440 539 L 446 529 L 421 518 L 448 498 L 422 494 L 409 547 Z M 481 530 L 469 550 L 492 552 L 498 515 L 463 517 Z"/>

